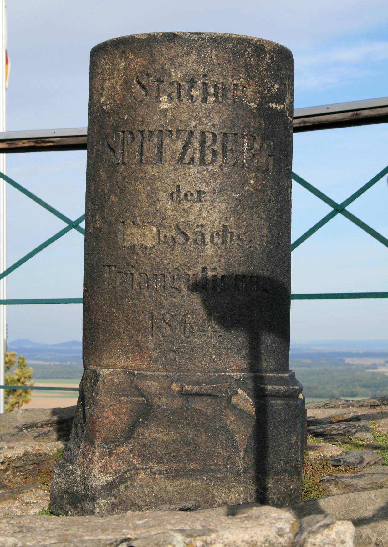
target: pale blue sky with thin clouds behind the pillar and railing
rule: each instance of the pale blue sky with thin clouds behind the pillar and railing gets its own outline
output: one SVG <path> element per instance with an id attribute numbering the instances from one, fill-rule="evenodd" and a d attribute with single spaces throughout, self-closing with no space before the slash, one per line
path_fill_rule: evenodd
<path id="1" fill-rule="evenodd" d="M 86 126 L 89 52 L 123 34 L 214 31 L 267 38 L 295 60 L 294 106 L 388 95 L 386 0 L 194 4 L 9 0 L 7 130 Z M 342 201 L 388 164 L 388 124 L 298 133 L 293 170 Z M 85 152 L 13 154 L 7 173 L 68 217 L 84 212 Z M 8 265 L 64 224 L 8 187 Z M 349 210 L 388 237 L 386 177 Z M 292 240 L 329 211 L 293 186 Z M 292 291 L 387 290 L 387 249 L 340 215 L 292 253 Z M 83 236 L 75 231 L 8 277 L 8 298 L 82 296 Z M 387 300 L 293 301 L 294 340 L 387 337 Z M 9 340 L 82 337 L 82 306 L 8 306 Z"/>

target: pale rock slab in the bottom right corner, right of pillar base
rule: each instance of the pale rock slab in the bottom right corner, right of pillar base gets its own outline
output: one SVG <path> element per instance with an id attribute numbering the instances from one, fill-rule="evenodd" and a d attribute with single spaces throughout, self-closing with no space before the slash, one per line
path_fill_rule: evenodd
<path id="1" fill-rule="evenodd" d="M 311 499 L 286 510 L 299 519 L 328 513 L 338 520 L 351 520 L 356 528 L 356 547 L 388 545 L 388 488 Z"/>

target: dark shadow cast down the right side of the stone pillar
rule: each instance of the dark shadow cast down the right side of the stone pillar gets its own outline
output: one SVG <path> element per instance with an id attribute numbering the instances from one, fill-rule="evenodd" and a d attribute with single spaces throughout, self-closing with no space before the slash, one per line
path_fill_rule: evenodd
<path id="1" fill-rule="evenodd" d="M 273 373 L 289 369 L 290 292 L 279 282 L 264 276 L 229 275 L 223 283 L 196 288 L 206 313 L 214 314 L 221 329 L 242 331 L 248 337 L 246 372 Z M 213 289 L 213 290 L 212 290 Z M 236 337 L 236 343 L 238 337 Z M 265 382 L 265 380 L 264 380 Z M 256 422 L 253 436 L 256 502 L 268 504 L 269 405 L 262 385 L 253 382 Z"/>

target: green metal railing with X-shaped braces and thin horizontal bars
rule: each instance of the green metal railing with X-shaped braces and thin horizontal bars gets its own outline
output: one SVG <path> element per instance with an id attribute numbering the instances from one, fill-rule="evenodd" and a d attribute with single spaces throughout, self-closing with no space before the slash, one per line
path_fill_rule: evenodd
<path id="1" fill-rule="evenodd" d="M 325 226 L 329 222 L 329 220 L 332 220 L 337 214 L 343 215 L 345 218 L 350 220 L 350 222 L 356 224 L 358 228 L 361 228 L 361 230 L 364 230 L 369 234 L 370 236 L 374 237 L 375 240 L 379 241 L 385 247 L 388 247 L 388 240 L 383 235 L 379 234 L 376 230 L 371 228 L 368 224 L 364 223 L 362 220 L 357 218 L 354 214 L 350 213 L 346 207 L 350 205 L 350 203 L 354 202 L 358 197 L 360 197 L 364 192 L 366 192 L 369 188 L 371 188 L 374 184 L 376 184 L 378 181 L 380 181 L 381 178 L 383 178 L 386 174 L 388 174 L 388 166 L 385 167 L 383 170 L 381 170 L 377 175 L 375 175 L 373 178 L 370 179 L 366 184 L 364 184 L 360 189 L 358 189 L 354 194 L 348 197 L 345 201 L 341 203 L 337 203 L 331 197 L 328 197 L 326 194 L 323 194 L 321 190 L 318 190 L 315 188 L 312 184 L 305 181 L 302 177 L 300 177 L 296 173 L 292 173 L 292 178 L 295 182 L 300 184 L 303 188 L 306 190 L 309 190 L 312 194 L 314 194 L 316 197 L 318 197 L 320 200 L 325 202 L 327 205 L 332 207 L 332 211 L 326 214 L 325 217 L 323 217 L 319 222 L 314 224 L 314 226 L 311 226 L 309 230 L 307 230 L 302 236 L 298 237 L 296 241 L 294 241 L 291 245 L 291 251 L 294 251 L 299 245 L 301 245 L 304 241 L 306 241 L 309 237 L 311 237 L 317 230 L 322 228 L 322 226 Z M 71 220 L 70 218 L 66 217 L 64 214 L 62 214 L 60 211 L 57 211 L 54 207 L 51 207 L 47 202 L 40 199 L 40 197 L 36 196 L 26 188 L 22 187 L 21 184 L 18 184 L 13 179 L 5 175 L 4 173 L 0 172 L 0 178 L 2 178 L 5 182 L 10 184 L 13 188 L 16 190 L 19 190 L 22 194 L 26 195 L 27 197 L 30 197 L 34 202 L 38 203 L 38 205 L 42 206 L 45 210 L 49 211 L 50 213 L 54 214 L 57 218 L 60 218 L 67 224 L 65 228 L 51 236 L 48 240 L 41 243 L 38 247 L 32 249 L 29 253 L 27 253 L 24 257 L 17 260 L 13 265 L 9 266 L 6 270 L 4 270 L 0 274 L 0 279 L 7 276 L 14 270 L 16 270 L 19 266 L 22 264 L 25 264 L 27 260 L 30 260 L 30 258 L 34 257 L 36 254 L 38 254 L 40 251 L 43 251 L 46 247 L 51 245 L 51 243 L 54 243 L 54 241 L 57 241 L 60 237 L 64 236 L 69 232 L 70 230 L 76 230 L 80 234 L 85 235 L 85 230 L 79 226 L 80 223 L 83 222 L 85 219 L 85 214 L 82 214 L 80 217 L 78 217 L 76 220 Z M 291 300 L 337 300 L 337 299 L 359 299 L 359 298 L 388 298 L 388 291 L 387 292 L 363 292 L 363 293 L 302 293 L 302 294 L 292 294 Z M 30 298 L 30 299 L 4 299 L 0 300 L 0 305 L 19 305 L 19 304 L 82 304 L 83 299 L 82 298 Z M 56 391 L 79 391 L 78 388 L 70 388 L 70 387 L 40 387 L 40 386 L 0 386 L 0 389 L 47 389 L 47 390 L 56 390 Z"/>

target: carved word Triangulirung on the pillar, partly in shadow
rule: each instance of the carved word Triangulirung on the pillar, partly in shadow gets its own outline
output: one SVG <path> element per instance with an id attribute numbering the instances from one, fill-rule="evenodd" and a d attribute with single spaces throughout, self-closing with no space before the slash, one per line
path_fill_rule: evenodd
<path id="1" fill-rule="evenodd" d="M 216 267 L 202 266 L 200 272 L 138 271 L 132 265 L 120 267 L 108 264 L 102 266 L 103 283 L 108 292 L 118 292 L 123 297 L 133 292 L 161 292 L 171 298 L 187 292 L 255 294 L 263 304 L 269 302 L 269 283 L 258 275 L 220 274 Z M 264 306 L 265 307 L 265 306 Z"/>

